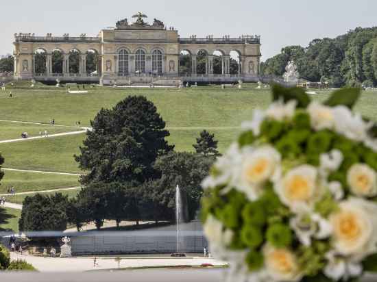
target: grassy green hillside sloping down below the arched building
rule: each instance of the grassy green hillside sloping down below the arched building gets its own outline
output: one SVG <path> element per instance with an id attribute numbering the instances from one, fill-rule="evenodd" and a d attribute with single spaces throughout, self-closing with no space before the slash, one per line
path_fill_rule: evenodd
<path id="1" fill-rule="evenodd" d="M 67 94 L 64 88 L 38 86 L 27 88 L 16 84 L 12 88 L 13 98 L 8 98 L 8 90 L 0 92 L 0 119 L 24 120 L 49 123 L 55 118 L 57 125 L 69 127 L 49 127 L 0 122 L 0 140 L 18 138 L 21 131 L 38 133 L 41 128 L 49 128 L 50 133 L 76 130 L 75 122 L 89 125 L 101 107 L 112 107 L 129 95 L 144 95 L 154 102 L 158 112 L 167 122 L 171 136 L 168 140 L 175 144 L 176 151 L 193 151 L 192 144 L 203 129 L 215 133 L 219 140 L 219 151 L 223 152 L 239 133 L 243 120 L 252 118 L 252 110 L 269 104 L 269 90 L 256 90 L 253 85 L 244 89 L 219 86 L 203 86 L 183 89 L 130 89 L 130 88 L 88 88 L 88 94 Z M 330 91 L 319 91 L 313 99 L 326 99 Z M 365 116 L 377 120 L 376 92 L 363 92 L 356 109 Z M 25 129 L 25 130 L 24 130 Z M 26 170 L 82 173 L 73 159 L 79 153 L 85 135 L 61 136 L 42 140 L 29 140 L 0 144 L 5 157 L 5 167 Z M 9 183 L 17 183 L 22 190 L 49 190 L 51 188 L 77 185 L 77 177 L 45 177 L 35 175 L 30 179 L 28 172 L 19 175 L 7 172 L 1 189 Z M 21 184 L 24 183 L 24 184 Z M 5 186 L 6 187 L 6 186 Z"/>

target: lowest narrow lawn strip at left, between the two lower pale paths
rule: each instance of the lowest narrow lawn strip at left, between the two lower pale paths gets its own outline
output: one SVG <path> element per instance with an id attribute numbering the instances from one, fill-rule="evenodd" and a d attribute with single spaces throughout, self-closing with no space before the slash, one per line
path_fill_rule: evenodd
<path id="1" fill-rule="evenodd" d="M 74 175 L 50 175 L 46 173 L 6 170 L 5 176 L 1 180 L 0 194 L 7 193 L 8 188 L 12 186 L 16 192 L 78 187 L 80 186 L 78 179 L 79 177 Z"/>

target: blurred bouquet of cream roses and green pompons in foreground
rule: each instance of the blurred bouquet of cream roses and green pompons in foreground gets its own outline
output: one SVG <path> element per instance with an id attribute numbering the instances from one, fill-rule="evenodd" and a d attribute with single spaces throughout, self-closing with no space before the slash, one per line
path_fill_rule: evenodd
<path id="1" fill-rule="evenodd" d="M 230 281 L 357 281 L 377 272 L 377 127 L 360 90 L 319 103 L 273 86 L 204 182 L 210 251 Z"/>

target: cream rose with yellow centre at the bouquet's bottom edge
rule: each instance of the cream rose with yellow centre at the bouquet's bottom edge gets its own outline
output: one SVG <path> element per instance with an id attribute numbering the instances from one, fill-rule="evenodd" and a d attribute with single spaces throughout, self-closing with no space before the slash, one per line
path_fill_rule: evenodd
<path id="1" fill-rule="evenodd" d="M 273 281 L 300 281 L 302 274 L 297 257 L 286 248 L 263 248 L 265 268 Z"/>

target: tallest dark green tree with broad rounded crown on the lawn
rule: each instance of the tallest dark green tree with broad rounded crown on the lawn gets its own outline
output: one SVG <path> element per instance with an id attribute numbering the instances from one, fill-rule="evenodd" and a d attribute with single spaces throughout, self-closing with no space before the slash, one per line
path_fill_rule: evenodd
<path id="1" fill-rule="evenodd" d="M 102 109 L 91 121 L 80 168 L 88 170 L 81 183 L 143 183 L 155 177 L 154 161 L 171 151 L 165 121 L 145 97 L 127 97 L 112 110 Z M 134 185 L 136 186 L 136 185 Z"/>

